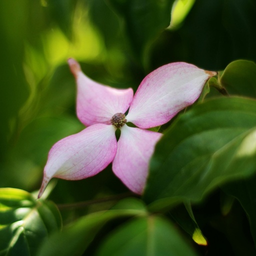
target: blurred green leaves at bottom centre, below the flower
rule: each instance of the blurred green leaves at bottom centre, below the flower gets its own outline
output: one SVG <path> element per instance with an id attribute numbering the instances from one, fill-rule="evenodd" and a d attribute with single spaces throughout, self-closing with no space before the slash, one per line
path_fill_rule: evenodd
<path id="1" fill-rule="evenodd" d="M 112 209 L 88 214 L 55 233 L 41 246 L 37 256 L 82 255 L 96 233 L 116 218 L 132 217 L 109 234 L 96 255 L 197 255 L 168 220 L 148 215 L 143 203 L 134 198 L 119 201 Z M 73 242 L 69 242 L 73 240 Z M 123 250 L 123 248 L 126 248 Z"/>

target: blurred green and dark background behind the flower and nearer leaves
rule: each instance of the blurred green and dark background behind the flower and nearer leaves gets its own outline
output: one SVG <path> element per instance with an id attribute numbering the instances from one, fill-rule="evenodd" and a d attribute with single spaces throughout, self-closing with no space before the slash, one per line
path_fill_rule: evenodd
<path id="1" fill-rule="evenodd" d="M 173 61 L 208 70 L 256 61 L 255 13 L 255 0 L 1 0 L 0 187 L 38 189 L 53 143 L 84 128 L 68 57 L 92 79 L 135 91 Z M 58 180 L 51 198 L 124 191 L 108 167 Z"/>

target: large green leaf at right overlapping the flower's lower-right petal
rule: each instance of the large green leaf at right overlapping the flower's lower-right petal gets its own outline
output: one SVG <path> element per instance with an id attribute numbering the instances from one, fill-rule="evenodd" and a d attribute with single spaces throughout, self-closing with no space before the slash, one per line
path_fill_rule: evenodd
<path id="1" fill-rule="evenodd" d="M 200 201 L 220 184 L 256 170 L 255 145 L 255 100 L 221 97 L 195 105 L 157 143 L 144 199 L 161 199 L 157 207 Z"/>

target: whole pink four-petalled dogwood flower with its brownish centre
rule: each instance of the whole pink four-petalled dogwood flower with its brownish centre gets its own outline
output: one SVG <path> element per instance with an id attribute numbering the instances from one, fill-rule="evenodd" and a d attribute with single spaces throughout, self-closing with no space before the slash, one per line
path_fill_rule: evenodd
<path id="1" fill-rule="evenodd" d="M 91 80 L 72 58 L 68 64 L 77 83 L 77 117 L 86 128 L 52 146 L 38 197 L 52 177 L 87 178 L 111 162 L 114 174 L 141 194 L 149 159 L 162 135 L 147 129 L 168 122 L 192 104 L 206 80 L 216 73 L 184 62 L 169 63 L 149 73 L 133 96 L 131 88 L 115 89 Z M 121 131 L 118 141 L 117 128 Z"/>

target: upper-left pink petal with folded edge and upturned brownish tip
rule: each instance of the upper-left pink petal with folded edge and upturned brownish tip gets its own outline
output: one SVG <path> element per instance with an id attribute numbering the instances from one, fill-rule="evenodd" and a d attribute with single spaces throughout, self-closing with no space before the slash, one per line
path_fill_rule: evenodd
<path id="1" fill-rule="evenodd" d="M 131 88 L 115 89 L 99 84 L 88 78 L 74 59 L 69 58 L 68 64 L 76 78 L 77 117 L 85 126 L 95 123 L 110 124 L 115 113 L 125 113 L 133 97 Z"/>

